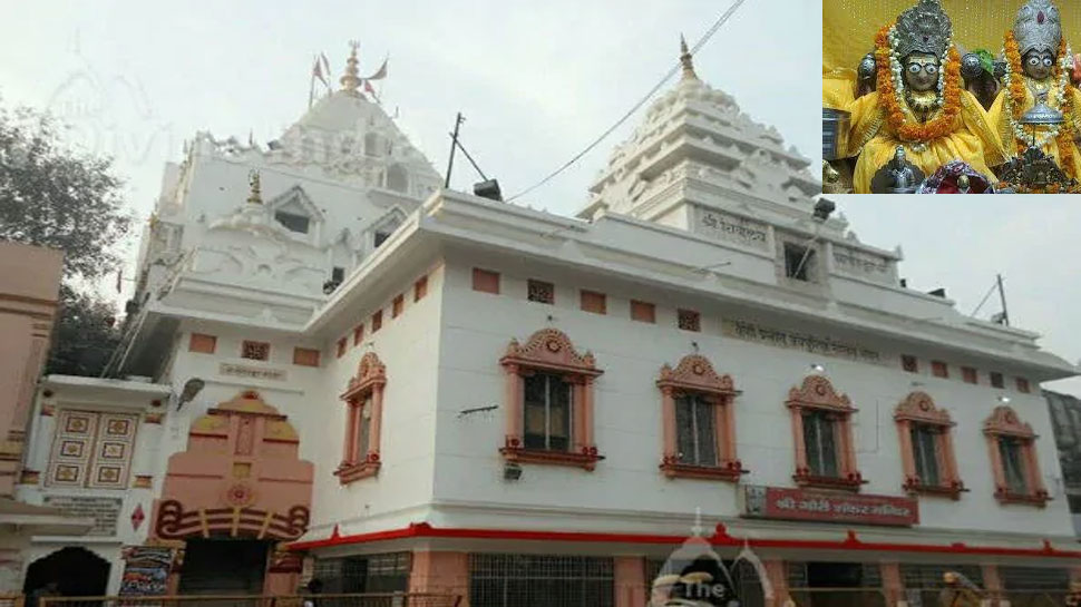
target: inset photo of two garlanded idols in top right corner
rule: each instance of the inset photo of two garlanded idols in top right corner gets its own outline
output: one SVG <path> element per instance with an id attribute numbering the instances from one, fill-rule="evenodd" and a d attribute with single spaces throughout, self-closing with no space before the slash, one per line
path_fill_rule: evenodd
<path id="1" fill-rule="evenodd" d="M 1081 3 L 827 0 L 822 189 L 1081 194 Z"/>

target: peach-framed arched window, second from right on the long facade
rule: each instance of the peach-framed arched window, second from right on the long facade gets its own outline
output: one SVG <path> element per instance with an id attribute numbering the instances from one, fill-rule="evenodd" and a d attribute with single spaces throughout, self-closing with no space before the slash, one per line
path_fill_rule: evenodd
<path id="1" fill-rule="evenodd" d="M 900 440 L 905 490 L 958 499 L 966 489 L 957 476 L 949 413 L 937 409 L 927 393 L 913 392 L 897 405 L 894 420 Z"/>

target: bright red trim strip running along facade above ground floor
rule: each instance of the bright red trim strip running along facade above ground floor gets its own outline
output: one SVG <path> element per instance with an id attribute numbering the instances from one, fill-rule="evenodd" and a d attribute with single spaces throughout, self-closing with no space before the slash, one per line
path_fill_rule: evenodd
<path id="1" fill-rule="evenodd" d="M 335 527 L 337 531 L 337 527 Z M 450 529 L 436 528 L 427 522 L 413 522 L 403 529 L 388 529 L 371 533 L 341 536 L 332 533 L 328 539 L 298 541 L 289 545 L 290 550 L 311 550 L 331 546 L 350 544 L 366 544 L 406 538 L 458 538 L 458 539 L 500 539 L 516 541 L 588 541 L 608 544 L 671 544 L 681 545 L 685 536 L 651 535 L 651 533 L 600 533 L 583 531 L 529 531 L 524 529 Z M 1049 540 L 1043 540 L 1041 548 L 1004 548 L 994 546 L 967 546 L 963 542 L 949 545 L 934 544 L 896 544 L 896 542 L 865 542 L 855 531 L 849 530 L 843 540 L 795 540 L 795 539 L 754 539 L 737 538 L 728 533 L 723 525 L 718 525 L 711 537 L 707 538 L 713 546 L 752 548 L 797 548 L 806 550 L 860 550 L 884 552 L 924 552 L 948 555 L 986 555 L 1011 557 L 1053 557 L 1081 558 L 1081 550 L 1058 550 Z"/>

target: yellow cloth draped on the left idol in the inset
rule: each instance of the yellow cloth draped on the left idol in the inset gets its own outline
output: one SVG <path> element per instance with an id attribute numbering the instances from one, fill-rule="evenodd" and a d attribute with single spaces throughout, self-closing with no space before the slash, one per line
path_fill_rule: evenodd
<path id="1" fill-rule="evenodd" d="M 853 177 L 856 194 L 869 194 L 875 173 L 893 158 L 898 145 L 905 146 L 908 161 L 918 166 L 927 176 L 951 160 L 964 160 L 973 169 L 995 180 L 989 167 L 1005 161 L 999 136 L 987 123 L 987 114 L 980 101 L 968 91 L 961 91 L 961 112 L 948 135 L 927 141 L 917 151 L 914 144 L 902 141 L 886 119 L 886 109 L 878 102 L 878 92 L 865 95 L 848 106 L 851 112 L 851 130 L 848 155 L 859 154 Z M 907 108 L 908 119 L 913 117 Z M 938 111 L 942 111 L 941 109 Z M 937 117 L 937 114 L 931 119 Z"/>

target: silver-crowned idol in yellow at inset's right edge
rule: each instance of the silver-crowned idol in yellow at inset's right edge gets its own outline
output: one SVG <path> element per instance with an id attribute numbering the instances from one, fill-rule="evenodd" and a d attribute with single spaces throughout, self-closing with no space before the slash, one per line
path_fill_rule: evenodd
<path id="1" fill-rule="evenodd" d="M 1059 9 L 1051 0 L 1029 0 L 1006 33 L 1006 75 L 989 114 L 1009 156 L 1033 145 L 1054 159 L 1070 178 L 1081 179 L 1081 91 L 1070 85 L 1073 52 L 1062 37 Z M 1042 100 L 1062 114 L 1061 125 L 1022 125 L 1021 118 Z"/>

